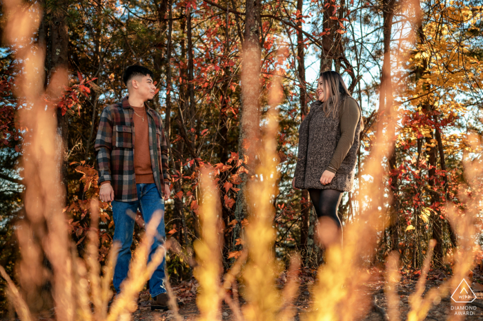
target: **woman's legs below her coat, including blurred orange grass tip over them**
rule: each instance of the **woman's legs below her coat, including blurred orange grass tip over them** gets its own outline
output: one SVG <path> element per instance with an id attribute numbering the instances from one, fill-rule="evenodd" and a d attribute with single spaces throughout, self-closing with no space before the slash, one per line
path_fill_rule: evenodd
<path id="1" fill-rule="evenodd" d="M 342 223 L 337 208 L 343 191 L 337 189 L 309 189 L 315 213 L 319 218 L 318 235 L 324 246 L 339 243 L 342 246 Z"/>

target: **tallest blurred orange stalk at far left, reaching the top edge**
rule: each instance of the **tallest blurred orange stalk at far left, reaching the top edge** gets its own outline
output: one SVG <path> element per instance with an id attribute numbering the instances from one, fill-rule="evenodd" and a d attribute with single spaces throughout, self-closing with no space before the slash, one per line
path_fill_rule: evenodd
<path id="1" fill-rule="evenodd" d="M 4 40 L 17 48 L 16 59 L 22 70 L 17 76 L 15 94 L 24 99 L 25 108 L 19 110 L 19 121 L 29 129 L 23 143 L 23 176 L 26 186 L 24 204 L 26 216 L 36 227 L 47 225 L 48 236 L 39 234 L 41 244 L 54 271 L 50 280 L 59 320 L 71 321 L 74 317 L 72 297 L 72 260 L 66 218 L 62 212 L 65 191 L 60 183 L 59 167 L 62 160 L 57 139 L 57 126 L 52 117 L 54 106 L 46 103 L 43 94 L 59 97 L 67 85 L 65 68 L 56 68 L 48 89 L 44 91 L 43 65 L 45 53 L 32 43 L 41 21 L 39 3 L 22 3 L 18 0 L 3 2 L 6 12 Z M 47 106 L 46 106 L 47 105 Z M 46 232 L 45 230 L 43 231 Z M 41 267 L 39 267 L 41 268 Z"/>

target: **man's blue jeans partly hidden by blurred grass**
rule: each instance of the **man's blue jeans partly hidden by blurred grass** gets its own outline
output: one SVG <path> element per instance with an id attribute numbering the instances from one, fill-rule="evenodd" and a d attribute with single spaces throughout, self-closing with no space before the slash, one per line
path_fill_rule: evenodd
<path id="1" fill-rule="evenodd" d="M 131 260 L 131 244 L 132 233 L 134 232 L 135 220 L 133 220 L 126 211 L 130 209 L 132 212 L 137 213 L 137 209 L 141 210 L 143 214 L 144 222 L 148 222 L 152 218 L 152 214 L 155 211 L 161 210 L 163 217 L 157 227 L 158 237 L 155 237 L 152 243 L 151 251 L 149 253 L 148 262 L 151 260 L 151 256 L 155 253 L 157 247 L 163 244 L 163 240 L 166 238 L 166 232 L 164 231 L 164 199 L 159 195 L 159 191 L 155 183 L 151 184 L 136 184 L 137 188 L 137 200 L 133 202 L 119 202 L 117 200 L 112 201 L 112 216 L 114 217 L 115 229 L 114 229 L 114 242 L 119 242 L 121 248 L 117 256 L 117 264 L 114 269 L 114 277 L 112 282 L 114 287 L 119 293 L 121 282 L 128 276 L 129 263 Z M 159 236 L 162 236 L 163 240 L 159 240 Z M 166 257 L 163 258 L 161 265 L 157 267 L 155 273 L 149 280 L 149 292 L 154 298 L 160 293 L 166 293 L 164 287 L 164 267 L 166 265 Z"/>

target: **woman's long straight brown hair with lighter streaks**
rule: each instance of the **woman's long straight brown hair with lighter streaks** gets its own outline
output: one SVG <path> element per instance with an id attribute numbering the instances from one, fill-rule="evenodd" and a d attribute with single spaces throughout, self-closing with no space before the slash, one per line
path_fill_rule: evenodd
<path id="1" fill-rule="evenodd" d="M 331 93 L 328 99 L 324 101 L 322 109 L 324 110 L 326 117 L 331 115 L 333 118 L 335 118 L 335 113 L 337 112 L 337 108 L 339 108 L 339 103 L 343 99 L 346 99 L 346 97 L 352 98 L 352 95 L 347 90 L 344 79 L 342 79 L 342 76 L 338 72 L 328 70 L 326 72 L 322 72 L 320 76 L 322 77 L 322 83 L 324 83 L 324 92 Z M 362 123 L 361 126 L 363 126 Z"/>

